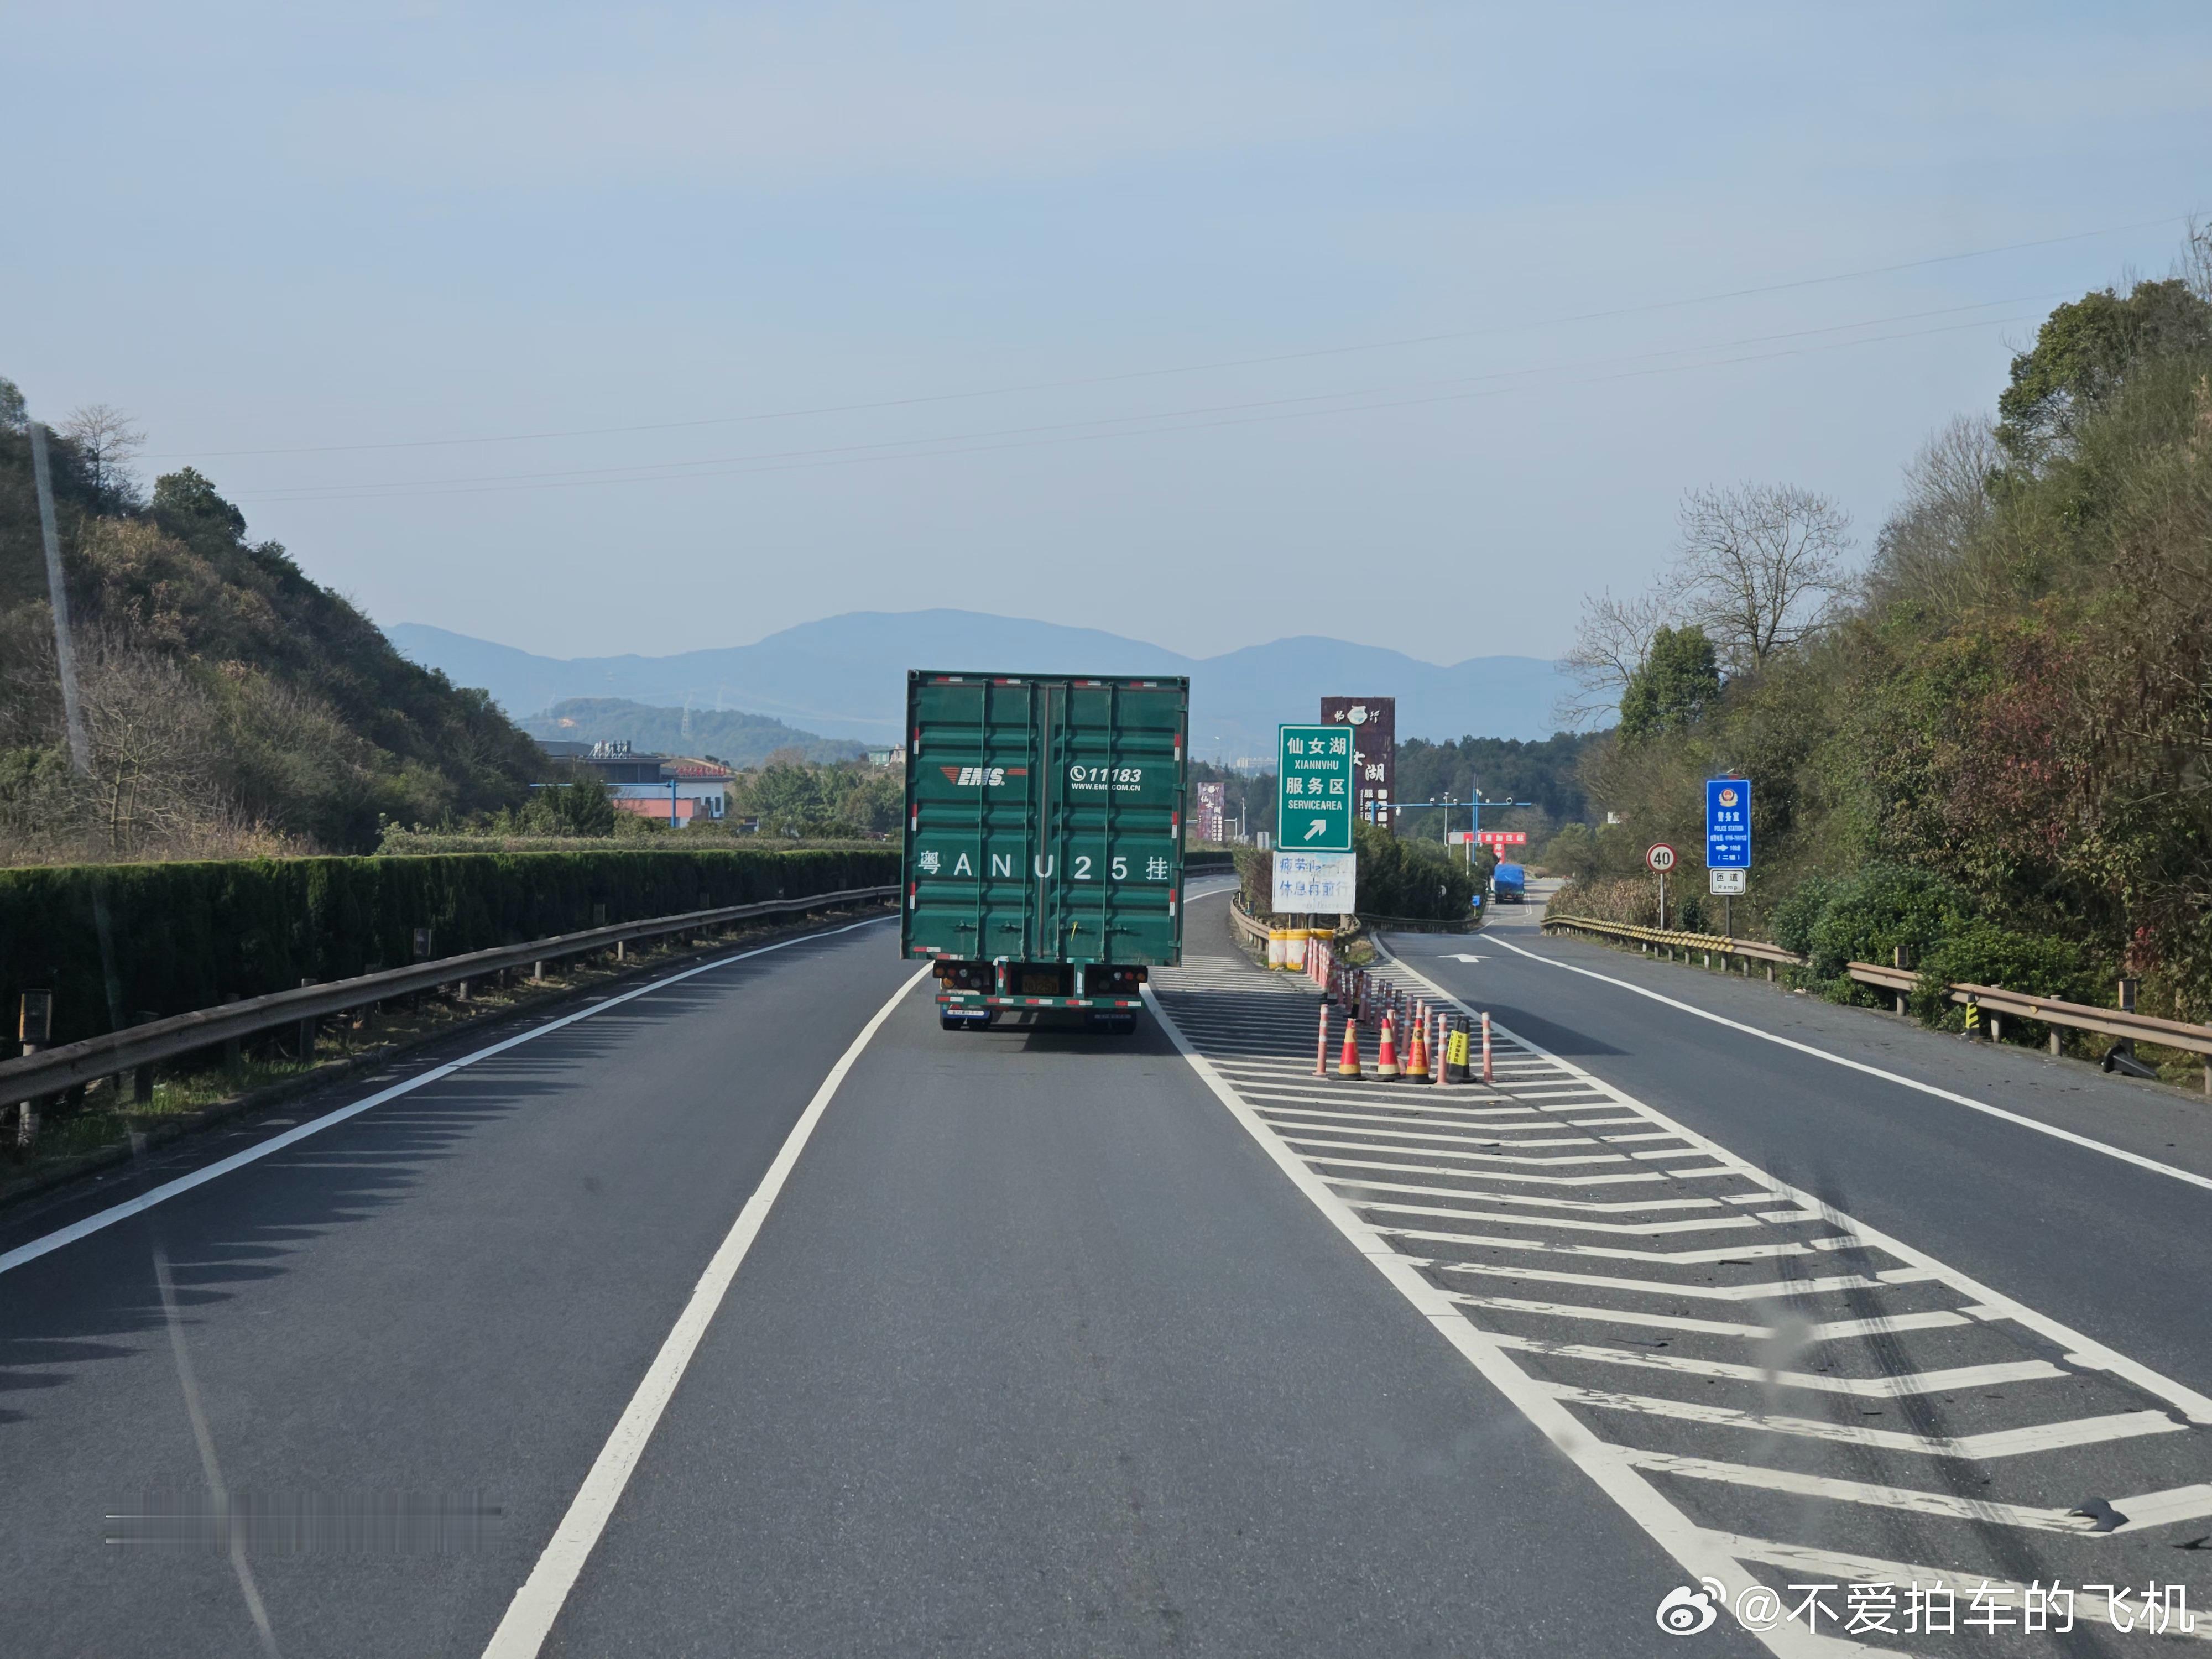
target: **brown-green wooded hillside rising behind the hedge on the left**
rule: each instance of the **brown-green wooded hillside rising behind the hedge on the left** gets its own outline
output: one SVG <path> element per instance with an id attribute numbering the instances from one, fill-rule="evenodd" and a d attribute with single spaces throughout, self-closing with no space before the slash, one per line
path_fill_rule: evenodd
<path id="1" fill-rule="evenodd" d="M 321 847 L 518 803 L 535 745 L 184 469 L 49 445 L 93 781 L 69 770 L 22 396 L 0 380 L 0 863 Z"/>

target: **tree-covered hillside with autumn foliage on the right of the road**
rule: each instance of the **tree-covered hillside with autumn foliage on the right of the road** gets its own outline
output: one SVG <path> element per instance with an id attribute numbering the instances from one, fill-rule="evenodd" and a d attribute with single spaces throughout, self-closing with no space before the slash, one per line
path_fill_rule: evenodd
<path id="1" fill-rule="evenodd" d="M 1582 768 L 1621 825 L 1546 849 L 1593 878 L 1566 902 L 1637 920 L 1641 849 L 1697 849 L 1703 781 L 1736 770 L 1759 865 L 1734 920 L 1838 993 L 1843 962 L 1907 949 L 1936 980 L 2108 1002 L 2126 973 L 2146 1011 L 2212 1015 L 2212 234 L 2190 257 L 2051 312 L 1993 418 L 1907 467 L 1840 604 L 1745 588 L 1792 644 L 1686 606 L 1630 655 Z M 1659 593 L 1694 597 L 1739 540 L 1686 538 Z"/>

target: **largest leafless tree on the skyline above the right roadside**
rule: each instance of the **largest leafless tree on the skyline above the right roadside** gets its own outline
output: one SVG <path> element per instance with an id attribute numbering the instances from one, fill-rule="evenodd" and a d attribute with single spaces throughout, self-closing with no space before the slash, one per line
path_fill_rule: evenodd
<path id="1" fill-rule="evenodd" d="M 1851 515 L 1796 484 L 1692 489 L 1681 502 L 1681 613 L 1732 675 L 1825 628 L 1843 599 Z"/>

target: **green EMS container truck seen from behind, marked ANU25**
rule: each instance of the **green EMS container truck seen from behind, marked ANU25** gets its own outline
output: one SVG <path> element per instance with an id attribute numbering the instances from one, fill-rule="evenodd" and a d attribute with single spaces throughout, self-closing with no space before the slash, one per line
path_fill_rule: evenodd
<path id="1" fill-rule="evenodd" d="M 1137 1029 L 1183 956 L 1190 681 L 907 675 L 900 947 L 947 1031 Z"/>

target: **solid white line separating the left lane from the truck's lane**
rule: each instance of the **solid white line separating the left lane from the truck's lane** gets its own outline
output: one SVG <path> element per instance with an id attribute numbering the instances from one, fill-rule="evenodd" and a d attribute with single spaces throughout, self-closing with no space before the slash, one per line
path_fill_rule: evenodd
<path id="1" fill-rule="evenodd" d="M 706 1336 L 714 1312 L 721 1307 L 721 1298 L 728 1294 L 730 1281 L 737 1279 L 737 1270 L 743 1265 L 745 1252 L 752 1250 L 752 1241 L 759 1237 L 761 1223 L 768 1221 L 768 1212 L 783 1192 L 783 1183 L 799 1166 L 799 1155 L 814 1135 L 814 1126 L 830 1108 L 830 1099 L 836 1095 L 838 1084 L 845 1082 L 845 1073 L 852 1071 L 869 1040 L 883 1029 L 883 1022 L 891 1018 L 891 1011 L 907 998 L 907 993 L 929 975 L 931 967 L 933 962 L 922 962 L 922 967 L 918 967 L 891 993 L 891 1000 L 876 1009 L 876 1015 L 860 1026 L 860 1035 L 852 1040 L 845 1053 L 838 1055 L 838 1062 L 830 1068 L 830 1075 L 823 1077 L 821 1088 L 814 1091 L 814 1099 L 807 1102 L 799 1121 L 792 1124 L 792 1133 L 776 1150 L 776 1161 L 768 1166 L 768 1175 L 761 1177 L 761 1186 L 754 1188 L 750 1199 L 745 1199 L 745 1208 L 737 1212 L 737 1221 L 730 1225 L 721 1248 L 714 1250 L 706 1272 L 699 1274 L 699 1283 L 692 1287 L 690 1301 L 684 1305 L 675 1327 L 661 1343 L 661 1352 L 653 1356 L 653 1365 L 646 1369 L 644 1380 L 637 1385 L 637 1391 L 624 1407 L 622 1418 L 615 1422 L 615 1431 L 599 1449 L 597 1460 L 591 1464 L 591 1473 L 584 1475 L 584 1484 L 568 1504 L 568 1513 L 562 1515 L 560 1526 L 553 1528 L 553 1537 L 538 1557 L 538 1566 L 531 1568 L 529 1579 L 524 1579 L 522 1588 L 515 1590 L 515 1599 L 507 1604 L 507 1617 L 502 1617 L 500 1628 L 491 1632 L 491 1641 L 484 1646 L 484 1659 L 533 1659 L 540 1646 L 544 1646 L 546 1635 L 553 1630 L 553 1621 L 568 1601 L 568 1590 L 575 1588 L 575 1579 L 584 1571 L 584 1562 L 591 1555 L 593 1544 L 597 1544 L 599 1533 L 606 1531 L 608 1515 L 615 1513 L 622 1489 L 628 1486 L 630 1473 L 637 1469 L 637 1460 L 644 1455 L 646 1442 L 653 1438 L 653 1429 L 661 1420 L 661 1411 L 666 1411 L 668 1400 L 675 1398 L 677 1385 L 684 1380 L 684 1371 L 690 1367 L 692 1354 L 699 1349 L 699 1340 Z"/>

